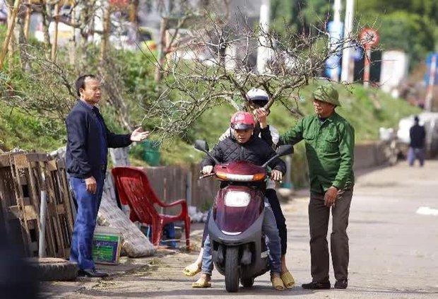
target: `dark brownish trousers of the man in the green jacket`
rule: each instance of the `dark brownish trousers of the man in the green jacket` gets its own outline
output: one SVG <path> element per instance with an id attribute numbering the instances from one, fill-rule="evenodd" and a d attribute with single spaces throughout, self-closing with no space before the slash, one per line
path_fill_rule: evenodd
<path id="1" fill-rule="evenodd" d="M 333 228 L 330 236 L 331 259 L 335 279 L 348 278 L 348 216 L 350 215 L 353 189 L 338 192 L 338 199 L 331 208 L 324 206 L 324 194 L 310 194 L 309 226 L 310 254 L 312 257 L 312 281 L 329 279 L 329 246 L 327 230 L 329 228 L 330 209 L 333 217 Z"/>

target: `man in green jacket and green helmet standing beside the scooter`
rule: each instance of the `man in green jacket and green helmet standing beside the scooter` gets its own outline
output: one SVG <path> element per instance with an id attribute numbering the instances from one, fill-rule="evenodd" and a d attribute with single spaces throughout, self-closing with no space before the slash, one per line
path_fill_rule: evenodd
<path id="1" fill-rule="evenodd" d="M 304 283 L 302 287 L 331 288 L 327 245 L 331 209 L 331 257 L 336 278 L 335 288 L 347 288 L 347 226 L 353 196 L 355 132 L 350 123 L 335 112 L 341 103 L 338 92 L 331 84 L 316 88 L 312 100 L 315 115 L 300 119 L 295 127 L 280 136 L 279 141 L 279 145 L 293 145 L 304 139 L 309 164 L 312 282 Z M 263 122 L 264 116 L 261 118 Z"/>

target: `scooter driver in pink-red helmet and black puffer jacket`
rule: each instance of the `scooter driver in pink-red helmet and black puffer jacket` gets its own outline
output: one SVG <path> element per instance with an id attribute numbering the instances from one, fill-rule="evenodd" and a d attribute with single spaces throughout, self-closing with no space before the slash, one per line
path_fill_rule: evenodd
<path id="1" fill-rule="evenodd" d="M 267 160 L 276 155 L 271 146 L 254 135 L 254 117 L 248 112 L 237 112 L 231 117 L 230 127 L 233 129 L 232 136 L 227 137 L 215 145 L 211 151 L 211 156 L 215 157 L 220 163 L 230 163 L 236 160 L 244 160 L 263 165 Z M 206 156 L 201 163 L 203 174 L 213 171 L 215 161 Z M 281 180 L 286 170 L 286 165 L 280 158 L 274 159 L 269 166 L 272 168 L 271 179 Z M 223 187 L 223 185 L 221 185 Z M 276 290 L 284 290 L 285 286 L 280 279 L 281 273 L 281 248 L 280 238 L 276 225 L 276 218 L 269 206 L 268 200 L 265 201 L 265 216 L 263 230 L 268 238 L 266 245 L 269 249 L 269 260 L 271 264 L 271 282 Z M 210 238 L 206 236 L 203 244 L 202 257 L 202 276 L 192 284 L 194 288 L 208 288 L 211 286 L 211 271 L 213 270 L 211 258 Z"/>

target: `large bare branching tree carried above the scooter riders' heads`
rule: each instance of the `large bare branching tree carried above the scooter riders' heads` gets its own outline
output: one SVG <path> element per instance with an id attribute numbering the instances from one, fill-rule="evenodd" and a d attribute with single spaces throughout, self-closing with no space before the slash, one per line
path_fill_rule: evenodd
<path id="1" fill-rule="evenodd" d="M 319 78 L 326 59 L 351 47 L 353 39 L 339 40 L 329 49 L 324 31 L 297 35 L 286 30 L 280 37 L 264 27 L 254 28 L 242 13 L 233 20 L 209 13 L 186 30 L 184 38 L 178 36 L 180 30 L 168 30 L 174 50 L 164 63 L 156 61 L 167 88 L 147 107 L 145 118 L 160 120 L 155 129 L 164 136 L 184 135 L 215 105 L 226 102 L 236 110 L 247 109 L 242 99 L 250 88 L 266 90 L 270 96 L 266 108 L 279 102 L 302 116 L 297 102 L 300 88 Z M 258 59 L 268 57 L 259 71 L 256 52 Z"/>

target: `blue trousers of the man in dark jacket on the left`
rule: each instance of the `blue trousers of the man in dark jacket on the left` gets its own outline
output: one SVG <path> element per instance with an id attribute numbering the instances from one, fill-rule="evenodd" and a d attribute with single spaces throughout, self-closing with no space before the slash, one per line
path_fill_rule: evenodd
<path id="1" fill-rule="evenodd" d="M 86 190 L 85 180 L 70 177 L 71 188 L 78 204 L 78 213 L 71 238 L 70 262 L 77 262 L 81 270 L 95 270 L 93 262 L 93 234 L 96 225 L 97 211 L 102 199 L 103 177 L 95 178 L 97 190 L 91 194 Z"/>

